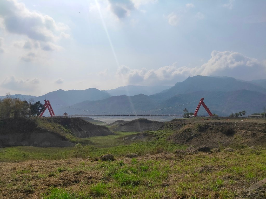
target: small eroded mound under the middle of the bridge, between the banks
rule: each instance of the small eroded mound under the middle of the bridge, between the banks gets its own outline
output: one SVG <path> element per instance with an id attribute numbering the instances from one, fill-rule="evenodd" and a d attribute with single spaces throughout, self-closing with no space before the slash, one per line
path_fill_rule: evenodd
<path id="1" fill-rule="evenodd" d="M 118 127 L 114 128 L 114 131 L 123 131 L 123 132 L 130 132 L 130 131 L 157 131 L 159 128 L 163 126 L 163 122 L 151 121 L 147 119 L 135 119 L 131 122 L 127 122 L 125 124 L 120 124 Z"/>

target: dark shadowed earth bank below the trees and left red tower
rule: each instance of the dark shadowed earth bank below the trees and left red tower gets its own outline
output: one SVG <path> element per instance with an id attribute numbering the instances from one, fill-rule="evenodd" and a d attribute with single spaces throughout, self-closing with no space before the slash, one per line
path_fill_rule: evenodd
<path id="1" fill-rule="evenodd" d="M 70 135 L 71 134 L 71 135 Z M 21 118 L 0 121 L 0 146 L 73 146 L 67 137 L 113 134 L 109 129 L 75 118 Z"/>

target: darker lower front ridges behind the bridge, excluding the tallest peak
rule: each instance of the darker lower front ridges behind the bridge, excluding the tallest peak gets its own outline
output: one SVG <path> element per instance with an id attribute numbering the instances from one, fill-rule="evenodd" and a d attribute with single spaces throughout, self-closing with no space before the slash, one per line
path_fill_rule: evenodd
<path id="1" fill-rule="evenodd" d="M 98 101 L 84 101 L 72 105 L 71 107 L 73 107 L 74 109 L 62 108 L 60 111 L 62 113 L 66 111 L 69 114 L 101 114 L 84 110 L 111 113 L 127 113 L 135 111 L 163 109 L 158 111 L 151 111 L 148 113 L 184 114 L 183 110 L 185 108 L 187 108 L 189 112 L 194 112 L 201 97 L 205 98 L 204 102 L 212 113 L 218 114 L 220 116 L 228 116 L 231 113 L 238 113 L 242 110 L 245 110 L 247 112 L 247 115 L 255 112 L 262 112 L 266 94 L 250 90 L 238 90 L 230 92 L 198 91 L 194 93 L 178 94 L 164 101 L 161 101 L 160 103 L 153 100 L 152 96 L 145 96 L 143 94 L 132 97 L 123 95 Z M 185 103 L 189 104 L 182 105 Z M 182 106 L 174 107 L 171 109 L 164 109 L 177 105 Z M 207 115 L 207 112 L 203 107 L 201 107 L 198 115 Z"/>

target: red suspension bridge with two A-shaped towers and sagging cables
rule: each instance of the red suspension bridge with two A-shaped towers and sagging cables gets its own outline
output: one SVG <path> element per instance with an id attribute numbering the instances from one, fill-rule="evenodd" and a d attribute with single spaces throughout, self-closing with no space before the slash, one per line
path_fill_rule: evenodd
<path id="1" fill-rule="evenodd" d="M 205 105 L 205 103 L 203 102 L 203 99 L 204 98 L 201 98 L 200 99 L 200 102 L 198 103 L 198 106 L 194 112 L 193 115 L 188 115 L 188 114 L 150 114 L 149 112 L 152 112 L 152 111 L 160 111 L 160 110 L 165 110 L 165 109 L 171 109 L 171 108 L 175 108 L 175 107 L 178 107 L 178 106 L 184 106 L 184 105 L 187 105 L 187 104 L 190 104 L 190 103 L 193 103 L 193 102 L 197 102 L 198 100 L 196 101 L 193 101 L 193 102 L 188 102 L 188 103 L 185 103 L 185 104 L 180 104 L 180 105 L 177 105 L 177 106 L 171 106 L 171 107 L 167 107 L 167 108 L 161 108 L 161 109 L 156 109 L 156 110 L 148 110 L 148 111 L 136 111 L 136 112 L 126 112 L 126 113 L 114 113 L 114 112 L 102 112 L 102 111 L 93 111 L 93 110 L 84 110 L 84 109 L 77 109 L 77 108 L 74 108 L 74 107 L 71 107 L 71 106 L 64 106 L 64 105 L 60 105 L 60 106 L 63 106 L 63 107 L 66 107 L 66 108 L 69 108 L 69 109 L 76 109 L 76 110 L 80 110 L 80 111 L 88 111 L 88 112 L 93 112 L 93 113 L 98 113 L 98 114 L 75 114 L 75 115 L 69 115 L 67 113 L 64 113 L 63 115 L 64 116 L 68 116 L 68 117 L 92 117 L 92 116 L 100 116 L 100 117 L 103 117 L 103 116 L 166 116 L 166 117 L 191 117 L 191 116 L 197 116 L 197 113 L 198 113 L 198 110 L 200 109 L 200 106 L 202 105 L 205 110 L 207 111 L 207 113 L 209 114 L 209 116 L 213 116 L 213 114 L 211 113 L 211 111 L 208 109 L 208 107 Z M 53 111 L 53 108 L 52 108 L 52 105 L 51 103 L 49 102 L 49 100 L 44 100 L 44 110 L 42 111 L 42 113 L 40 114 L 39 117 L 42 117 L 45 110 L 48 109 L 51 117 L 55 116 L 55 113 Z"/>

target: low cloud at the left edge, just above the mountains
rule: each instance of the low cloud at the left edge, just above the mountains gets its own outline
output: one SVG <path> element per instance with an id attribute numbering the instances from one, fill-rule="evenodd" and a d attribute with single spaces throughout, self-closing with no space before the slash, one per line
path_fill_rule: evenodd
<path id="1" fill-rule="evenodd" d="M 15 76 L 11 75 L 1 83 L 1 86 L 3 88 L 15 91 L 32 91 L 38 88 L 39 83 L 40 83 L 39 78 L 23 80 L 23 79 L 16 79 Z"/>

